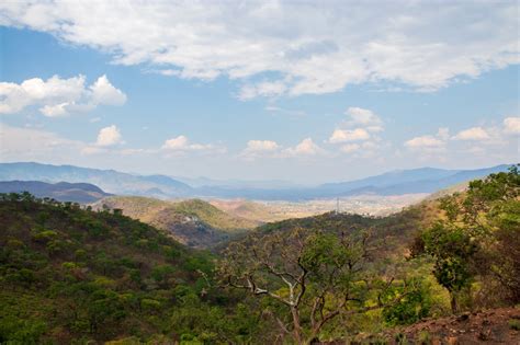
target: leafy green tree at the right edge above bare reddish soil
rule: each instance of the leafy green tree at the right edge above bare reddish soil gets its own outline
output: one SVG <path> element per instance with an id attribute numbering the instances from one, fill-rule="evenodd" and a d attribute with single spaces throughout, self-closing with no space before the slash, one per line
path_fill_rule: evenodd
<path id="1" fill-rule="evenodd" d="M 434 258 L 433 274 L 449 290 L 453 312 L 456 295 L 476 276 L 498 280 L 507 299 L 520 301 L 518 168 L 472 181 L 465 193 L 440 199 L 445 219 L 423 231 L 411 248 L 415 255 Z"/>

